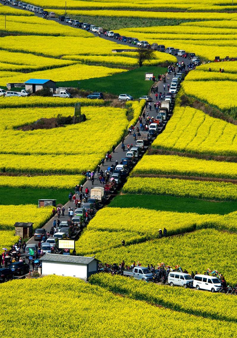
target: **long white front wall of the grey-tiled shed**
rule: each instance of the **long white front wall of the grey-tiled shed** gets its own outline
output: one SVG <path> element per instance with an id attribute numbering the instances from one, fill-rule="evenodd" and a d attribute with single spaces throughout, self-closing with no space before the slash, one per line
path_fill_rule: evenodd
<path id="1" fill-rule="evenodd" d="M 86 279 L 87 265 L 60 262 L 42 262 L 42 274 L 56 274 L 58 276 L 69 276 Z"/>

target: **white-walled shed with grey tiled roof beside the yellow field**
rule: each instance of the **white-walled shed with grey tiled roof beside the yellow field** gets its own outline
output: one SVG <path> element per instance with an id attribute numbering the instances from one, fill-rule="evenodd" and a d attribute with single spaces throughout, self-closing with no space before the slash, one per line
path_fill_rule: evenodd
<path id="1" fill-rule="evenodd" d="M 43 275 L 78 277 L 86 282 L 90 275 L 98 272 L 98 260 L 94 256 L 46 254 L 40 260 Z"/>

